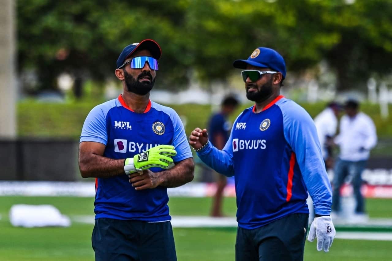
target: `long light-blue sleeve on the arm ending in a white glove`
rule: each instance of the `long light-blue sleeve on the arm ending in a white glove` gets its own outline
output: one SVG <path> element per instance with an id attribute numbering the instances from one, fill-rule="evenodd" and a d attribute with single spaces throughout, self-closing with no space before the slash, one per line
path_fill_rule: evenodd
<path id="1" fill-rule="evenodd" d="M 296 155 L 303 180 L 313 200 L 314 213 L 329 215 L 332 188 L 314 121 L 307 111 L 294 101 L 283 100 L 277 105 L 283 114 L 285 139 Z"/>

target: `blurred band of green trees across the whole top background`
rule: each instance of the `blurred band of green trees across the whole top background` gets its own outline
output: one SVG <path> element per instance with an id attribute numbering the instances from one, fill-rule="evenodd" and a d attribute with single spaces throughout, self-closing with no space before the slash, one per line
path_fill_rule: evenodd
<path id="1" fill-rule="evenodd" d="M 234 60 L 266 46 L 289 71 L 326 59 L 343 90 L 390 72 L 391 19 L 390 0 L 20 0 L 18 62 L 36 68 L 40 89 L 54 89 L 64 71 L 81 87 L 114 77 L 122 48 L 152 38 L 162 46 L 157 86 L 177 89 L 191 72 L 224 81 Z"/>

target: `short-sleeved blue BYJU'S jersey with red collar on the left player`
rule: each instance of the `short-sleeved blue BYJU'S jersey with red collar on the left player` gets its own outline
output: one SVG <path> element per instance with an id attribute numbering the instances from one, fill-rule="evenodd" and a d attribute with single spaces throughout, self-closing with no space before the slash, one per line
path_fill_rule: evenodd
<path id="1" fill-rule="evenodd" d="M 111 159 L 132 158 L 157 145 L 173 145 L 174 162 L 191 158 L 184 127 L 171 108 L 149 101 L 144 113 L 133 112 L 122 96 L 94 107 L 87 116 L 80 142 L 95 141 L 106 145 L 103 156 Z M 162 171 L 158 167 L 150 169 Z M 136 191 L 127 175 L 96 179 L 95 218 L 159 222 L 171 220 L 167 188 Z"/>

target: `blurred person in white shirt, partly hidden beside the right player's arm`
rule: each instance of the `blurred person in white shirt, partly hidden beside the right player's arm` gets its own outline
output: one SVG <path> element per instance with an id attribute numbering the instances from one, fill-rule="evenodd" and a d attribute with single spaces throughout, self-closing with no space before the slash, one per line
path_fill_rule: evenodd
<path id="1" fill-rule="evenodd" d="M 327 105 L 327 108 L 314 118 L 314 124 L 316 125 L 317 135 L 321 145 L 321 153 L 327 169 L 333 167 L 331 143 L 338 128 L 338 115 L 341 110 L 341 105 L 332 101 Z"/>

